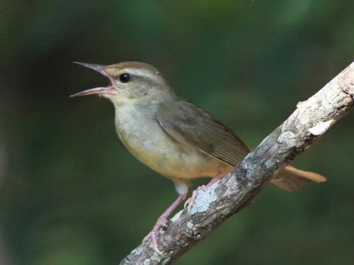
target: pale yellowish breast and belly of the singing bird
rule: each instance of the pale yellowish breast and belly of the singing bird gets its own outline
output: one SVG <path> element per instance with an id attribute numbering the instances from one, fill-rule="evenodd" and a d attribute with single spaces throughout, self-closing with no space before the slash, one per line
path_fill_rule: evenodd
<path id="1" fill-rule="evenodd" d="M 174 141 L 150 111 L 154 110 L 142 111 L 129 105 L 116 109 L 118 137 L 139 161 L 161 175 L 182 179 L 230 170 L 230 166 L 198 149 Z"/>

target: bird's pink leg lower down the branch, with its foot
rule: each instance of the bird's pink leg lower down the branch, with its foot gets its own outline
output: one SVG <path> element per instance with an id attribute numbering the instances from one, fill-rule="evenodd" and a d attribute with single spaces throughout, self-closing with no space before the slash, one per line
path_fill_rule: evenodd
<path id="1" fill-rule="evenodd" d="M 178 196 L 178 198 L 175 201 L 173 201 L 173 203 L 157 219 L 157 222 L 154 225 L 154 228 L 152 229 L 152 231 L 143 239 L 143 242 L 144 242 L 144 241 L 148 240 L 151 237 L 152 238 L 152 245 L 153 245 L 155 251 L 157 253 L 159 253 L 159 254 L 162 254 L 162 253 L 157 248 L 157 239 L 156 239 L 157 231 L 162 226 L 166 227 L 168 216 L 186 198 L 187 192 L 188 192 L 188 186 L 186 185 L 186 183 L 184 183 L 183 181 L 174 180 L 174 179 L 173 179 L 173 182 L 174 182 L 174 185 L 176 187 L 176 191 L 178 191 L 180 193 L 180 196 Z"/>

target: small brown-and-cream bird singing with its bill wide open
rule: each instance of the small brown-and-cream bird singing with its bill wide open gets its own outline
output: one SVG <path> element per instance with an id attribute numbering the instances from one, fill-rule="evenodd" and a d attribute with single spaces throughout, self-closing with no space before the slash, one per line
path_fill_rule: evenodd
<path id="1" fill-rule="evenodd" d="M 196 104 L 178 96 L 162 74 L 140 62 L 97 65 L 74 62 L 93 69 L 109 80 L 71 96 L 98 94 L 115 108 L 115 131 L 123 147 L 140 162 L 171 179 L 179 196 L 157 219 L 152 231 L 155 251 L 157 232 L 172 211 L 186 198 L 188 182 L 211 177 L 206 186 L 193 191 L 186 201 L 188 212 L 197 192 L 214 184 L 237 166 L 251 149 L 226 125 Z M 320 183 L 320 174 L 286 166 L 270 183 L 287 191 L 298 191 L 306 183 Z"/>

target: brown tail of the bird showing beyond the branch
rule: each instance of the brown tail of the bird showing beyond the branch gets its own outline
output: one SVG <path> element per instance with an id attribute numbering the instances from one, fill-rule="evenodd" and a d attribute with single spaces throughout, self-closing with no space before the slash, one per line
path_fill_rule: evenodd
<path id="1" fill-rule="evenodd" d="M 271 183 L 287 191 L 298 191 L 307 183 L 320 183 L 326 180 L 320 174 L 286 166 L 279 174 L 273 177 Z"/>

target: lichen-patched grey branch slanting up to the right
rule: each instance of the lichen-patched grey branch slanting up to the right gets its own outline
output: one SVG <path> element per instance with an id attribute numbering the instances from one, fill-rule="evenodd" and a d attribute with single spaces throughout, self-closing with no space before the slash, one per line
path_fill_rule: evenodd
<path id="1" fill-rule="evenodd" d="M 199 191 L 189 215 L 181 210 L 160 230 L 156 253 L 151 239 L 120 264 L 169 264 L 250 204 L 270 178 L 307 150 L 330 126 L 354 109 L 354 62 L 306 101 L 223 179 Z"/>

